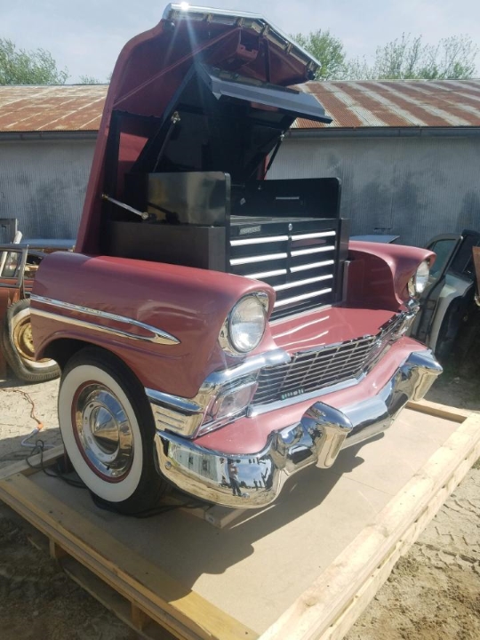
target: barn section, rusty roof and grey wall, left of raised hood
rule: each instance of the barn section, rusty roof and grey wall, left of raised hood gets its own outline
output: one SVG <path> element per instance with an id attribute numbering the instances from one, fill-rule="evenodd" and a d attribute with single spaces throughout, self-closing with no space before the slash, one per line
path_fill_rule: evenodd
<path id="1" fill-rule="evenodd" d="M 24 236 L 76 237 L 106 93 L 0 87 L 0 218 L 17 218 Z"/>

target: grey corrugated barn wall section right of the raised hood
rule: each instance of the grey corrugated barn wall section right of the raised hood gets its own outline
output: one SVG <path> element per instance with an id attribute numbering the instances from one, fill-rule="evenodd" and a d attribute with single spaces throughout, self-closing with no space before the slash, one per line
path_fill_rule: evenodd
<path id="1" fill-rule="evenodd" d="M 404 244 L 480 229 L 480 138 L 284 140 L 269 178 L 342 180 L 341 214 L 352 235 L 385 233 Z"/>

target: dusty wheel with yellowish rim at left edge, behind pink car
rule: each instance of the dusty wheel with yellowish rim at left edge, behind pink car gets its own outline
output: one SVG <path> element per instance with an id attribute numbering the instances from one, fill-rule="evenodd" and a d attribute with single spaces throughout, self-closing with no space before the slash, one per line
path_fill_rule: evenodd
<path id="1" fill-rule="evenodd" d="M 29 300 L 19 300 L 7 308 L 3 343 L 5 359 L 20 380 L 45 382 L 59 377 L 60 367 L 54 360 L 35 359 Z"/>

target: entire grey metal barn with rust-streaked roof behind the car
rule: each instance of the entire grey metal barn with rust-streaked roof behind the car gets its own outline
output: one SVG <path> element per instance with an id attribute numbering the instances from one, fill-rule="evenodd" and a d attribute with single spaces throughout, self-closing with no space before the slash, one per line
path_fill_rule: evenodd
<path id="1" fill-rule="evenodd" d="M 332 116 L 298 120 L 269 178 L 337 176 L 352 234 L 424 244 L 480 228 L 480 80 L 309 83 Z M 105 85 L 0 87 L 0 218 L 73 237 Z"/>

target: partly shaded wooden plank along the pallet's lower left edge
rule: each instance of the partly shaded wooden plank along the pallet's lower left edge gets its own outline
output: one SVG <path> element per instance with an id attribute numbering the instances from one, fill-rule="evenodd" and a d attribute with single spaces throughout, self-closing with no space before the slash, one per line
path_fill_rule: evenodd
<path id="1" fill-rule="evenodd" d="M 2 480 L 0 499 L 181 640 L 258 637 L 28 477 L 17 474 Z"/>

